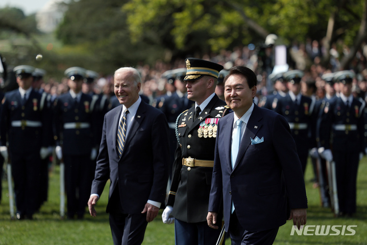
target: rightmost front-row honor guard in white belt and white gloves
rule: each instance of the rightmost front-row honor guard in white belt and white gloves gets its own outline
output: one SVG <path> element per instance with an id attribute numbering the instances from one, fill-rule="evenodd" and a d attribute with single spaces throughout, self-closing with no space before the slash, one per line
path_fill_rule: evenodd
<path id="1" fill-rule="evenodd" d="M 325 105 L 323 121 L 325 133 L 320 135 L 319 152 L 327 161 L 335 162 L 339 215 L 352 216 L 356 212 L 356 182 L 358 164 L 365 152 L 364 101 L 352 95 L 351 71 L 334 75 L 339 84 L 339 97 Z M 332 139 L 332 142 L 331 142 Z M 333 187 L 334 188 L 334 187 Z"/>

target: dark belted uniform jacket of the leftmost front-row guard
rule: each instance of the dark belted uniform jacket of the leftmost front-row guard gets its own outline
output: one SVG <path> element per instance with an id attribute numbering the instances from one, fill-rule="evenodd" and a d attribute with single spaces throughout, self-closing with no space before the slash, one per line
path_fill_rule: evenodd
<path id="1" fill-rule="evenodd" d="M 46 97 L 32 90 L 25 104 L 19 90 L 5 94 L 1 110 L 1 145 L 9 140 L 12 153 L 39 152 L 49 145 L 47 128 L 51 126 Z"/>

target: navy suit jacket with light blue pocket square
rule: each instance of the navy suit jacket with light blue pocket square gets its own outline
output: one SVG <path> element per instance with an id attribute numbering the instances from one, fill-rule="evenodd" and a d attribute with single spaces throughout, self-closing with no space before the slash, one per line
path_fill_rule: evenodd
<path id="1" fill-rule="evenodd" d="M 288 218 L 287 201 L 290 208 L 307 208 L 301 163 L 289 125 L 279 114 L 255 105 L 232 170 L 233 120 L 230 114 L 218 123 L 208 211 L 218 212 L 223 195 L 226 231 L 232 199 L 244 229 L 262 231 L 282 226 Z M 253 145 L 255 137 L 264 141 Z"/>

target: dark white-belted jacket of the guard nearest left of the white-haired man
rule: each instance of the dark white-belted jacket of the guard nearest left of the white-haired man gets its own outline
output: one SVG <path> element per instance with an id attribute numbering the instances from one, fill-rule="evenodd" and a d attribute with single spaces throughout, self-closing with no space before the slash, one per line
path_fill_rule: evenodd
<path id="1" fill-rule="evenodd" d="M 96 133 L 92 97 L 82 94 L 80 101 L 70 93 L 60 95 L 54 102 L 54 134 L 56 145 L 63 146 L 63 154 L 90 154 L 92 147 L 99 145 Z"/>

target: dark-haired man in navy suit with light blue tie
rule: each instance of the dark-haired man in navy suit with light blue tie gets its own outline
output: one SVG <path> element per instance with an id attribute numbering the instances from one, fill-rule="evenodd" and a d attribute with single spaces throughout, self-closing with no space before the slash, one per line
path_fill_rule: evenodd
<path id="1" fill-rule="evenodd" d="M 286 219 L 306 224 L 307 197 L 296 144 L 284 117 L 253 103 L 256 75 L 234 66 L 225 78 L 233 114 L 219 120 L 207 221 L 224 202 L 232 244 L 272 244 Z M 290 214 L 287 212 L 290 207 Z"/>

